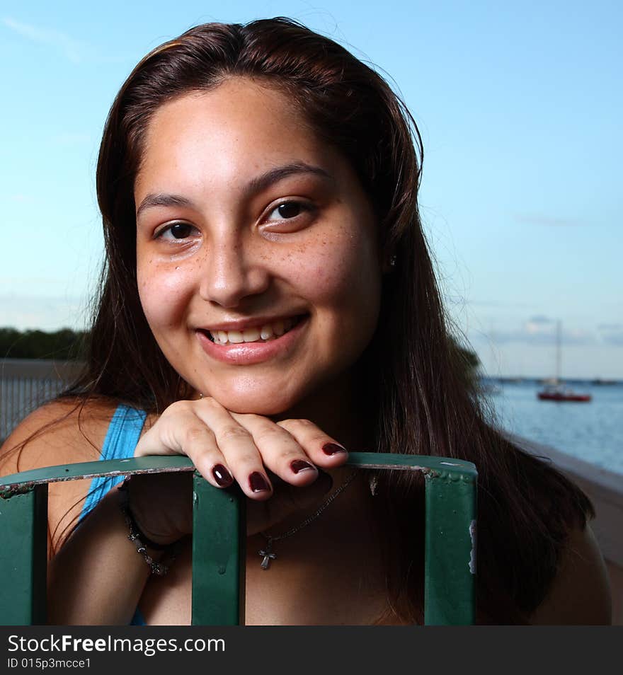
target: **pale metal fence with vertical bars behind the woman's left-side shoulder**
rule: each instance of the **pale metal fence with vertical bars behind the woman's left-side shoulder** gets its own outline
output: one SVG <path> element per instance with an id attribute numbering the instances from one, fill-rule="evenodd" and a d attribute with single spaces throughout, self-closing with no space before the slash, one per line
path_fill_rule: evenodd
<path id="1" fill-rule="evenodd" d="M 57 396 L 78 374 L 81 365 L 42 359 L 1 359 L 0 442 L 29 412 Z"/>

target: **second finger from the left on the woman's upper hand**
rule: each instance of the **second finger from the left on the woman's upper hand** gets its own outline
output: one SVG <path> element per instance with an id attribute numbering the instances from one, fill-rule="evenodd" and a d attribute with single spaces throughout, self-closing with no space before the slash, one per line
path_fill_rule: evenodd
<path id="1" fill-rule="evenodd" d="M 273 486 L 248 429 L 213 398 L 194 403 L 198 417 L 212 429 L 218 449 L 245 495 L 255 500 L 268 499 L 273 494 Z"/>

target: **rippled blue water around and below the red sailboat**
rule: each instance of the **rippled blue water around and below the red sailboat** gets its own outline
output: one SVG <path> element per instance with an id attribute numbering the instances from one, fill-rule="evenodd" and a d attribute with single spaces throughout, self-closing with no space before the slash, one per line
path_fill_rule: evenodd
<path id="1" fill-rule="evenodd" d="M 491 382 L 487 398 L 504 429 L 620 473 L 623 480 L 623 383 L 569 383 L 588 403 L 542 401 L 536 381 Z"/>

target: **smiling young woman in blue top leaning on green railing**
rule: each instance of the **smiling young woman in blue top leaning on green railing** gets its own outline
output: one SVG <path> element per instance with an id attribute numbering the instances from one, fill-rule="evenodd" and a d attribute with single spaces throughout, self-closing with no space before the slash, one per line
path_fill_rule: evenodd
<path id="1" fill-rule="evenodd" d="M 479 621 L 610 623 L 590 502 L 487 423 L 464 375 L 420 167 L 387 83 L 302 25 L 200 25 L 157 47 L 103 134 L 86 370 L 8 439 L 4 473 L 186 454 L 248 497 L 247 623 L 418 623 L 422 485 L 380 475 L 372 495 L 347 450 L 464 458 Z M 191 529 L 188 475 L 52 485 L 50 622 L 188 623 Z"/>

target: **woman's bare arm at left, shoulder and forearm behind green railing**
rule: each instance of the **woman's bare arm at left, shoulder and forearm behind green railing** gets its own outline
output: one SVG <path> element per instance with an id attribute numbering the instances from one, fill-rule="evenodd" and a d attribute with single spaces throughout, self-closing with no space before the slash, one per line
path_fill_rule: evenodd
<path id="1" fill-rule="evenodd" d="M 0 470 L 6 475 L 96 460 L 113 410 L 114 405 L 89 405 L 79 418 L 74 403 L 43 406 L 7 439 Z M 89 480 L 74 480 L 49 488 L 49 623 L 127 623 L 149 576 L 148 565 L 127 540 L 116 488 L 65 542 L 65 531 L 79 517 L 89 485 Z"/>

